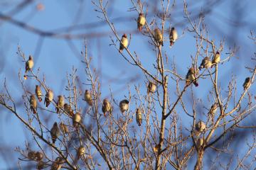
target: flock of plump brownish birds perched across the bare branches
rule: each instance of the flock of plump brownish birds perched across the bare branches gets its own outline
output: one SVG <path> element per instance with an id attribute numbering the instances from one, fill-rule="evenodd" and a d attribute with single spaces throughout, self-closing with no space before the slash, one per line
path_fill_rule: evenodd
<path id="1" fill-rule="evenodd" d="M 142 28 L 145 26 L 145 24 L 146 24 L 146 18 L 144 16 L 144 14 L 139 13 L 139 17 L 137 18 L 138 30 L 142 31 Z M 174 45 L 174 42 L 176 42 L 177 39 L 178 39 L 178 33 L 177 33 L 176 29 L 171 28 L 170 33 L 169 33 L 170 46 Z M 156 40 L 157 45 L 162 45 L 162 46 L 164 45 L 163 35 L 161 33 L 161 30 L 159 30 L 159 28 L 154 29 L 154 40 Z M 122 39 L 121 39 L 121 42 L 119 45 L 119 52 L 122 52 L 124 50 L 124 48 L 127 48 L 128 43 L 129 42 L 127 39 L 127 35 L 126 34 L 122 35 Z M 201 70 L 203 68 L 208 69 L 208 68 L 213 67 L 214 65 L 218 64 L 219 62 L 220 62 L 220 52 L 216 52 L 213 57 L 213 60 L 210 60 L 209 57 L 203 58 L 201 65 L 198 69 L 199 70 Z M 26 61 L 26 71 L 25 71 L 24 79 L 27 79 L 26 74 L 33 68 L 33 64 L 34 64 L 33 57 L 30 55 L 28 57 L 28 60 Z M 198 86 L 198 82 L 197 82 L 198 78 L 196 78 L 196 74 L 198 74 L 197 69 L 195 70 L 193 67 L 188 69 L 188 72 L 186 74 L 186 85 L 193 83 L 195 86 Z M 250 79 L 250 77 L 247 77 L 242 86 L 244 87 L 244 89 L 247 89 L 250 86 L 250 84 L 251 84 L 251 79 Z M 149 82 L 149 84 L 147 86 L 147 92 L 148 93 L 156 92 L 156 87 L 157 87 L 156 84 L 154 84 L 153 82 Z M 31 106 L 31 111 L 34 114 L 37 113 L 36 97 L 38 98 L 39 102 L 42 101 L 43 93 L 41 91 L 41 86 L 36 85 L 35 93 L 36 93 L 36 96 L 32 94 L 30 96 L 30 101 L 29 101 L 30 106 Z M 46 108 L 53 101 L 53 98 L 54 98 L 53 91 L 50 89 L 46 89 L 46 95 L 45 95 L 45 100 L 44 100 L 44 103 L 46 104 Z M 84 100 L 87 102 L 87 104 L 89 106 L 93 105 L 91 91 L 85 90 Z M 218 108 L 218 105 L 217 105 L 217 103 L 215 103 L 210 108 L 210 111 L 215 112 L 217 110 L 217 108 Z M 124 113 L 125 111 L 128 111 L 129 110 L 129 101 L 127 101 L 126 99 L 120 101 L 119 109 L 122 113 Z M 107 116 L 106 113 L 111 114 L 112 110 L 113 110 L 113 106 L 111 105 L 110 101 L 108 101 L 107 98 L 105 98 L 102 103 L 102 113 L 106 117 Z M 80 126 L 80 122 L 82 120 L 81 115 L 79 112 L 77 112 L 75 114 L 73 113 L 72 107 L 68 103 L 65 103 L 64 96 L 58 96 L 58 100 L 55 103 L 55 111 L 56 111 L 56 113 L 60 113 L 60 112 L 66 113 L 71 118 L 73 118 L 73 127 L 76 128 L 76 130 L 78 130 L 78 128 Z M 141 126 L 142 125 L 142 111 L 140 110 L 140 108 L 136 109 L 136 120 L 137 120 L 137 124 L 139 126 Z M 52 138 L 53 145 L 55 144 L 55 141 L 60 136 L 60 130 L 65 134 L 69 133 L 67 125 L 65 125 L 64 123 L 60 123 L 59 126 L 60 126 L 60 128 L 58 128 L 58 123 L 55 122 L 53 124 L 53 127 L 50 129 L 50 136 Z M 196 124 L 196 130 L 198 130 L 198 132 L 203 132 L 203 130 L 205 130 L 205 129 L 206 129 L 206 125 L 202 121 L 199 121 Z M 201 141 L 199 141 L 199 144 L 200 143 L 201 143 Z M 82 155 L 84 155 L 84 154 L 85 154 L 85 147 L 80 146 L 77 151 L 76 160 L 80 159 L 80 157 L 82 157 Z M 43 163 L 41 162 L 41 160 L 43 159 L 43 154 L 41 152 L 33 152 L 33 151 L 28 152 L 28 158 L 38 161 L 38 169 L 40 169 L 40 167 L 43 166 Z M 53 162 L 51 169 L 52 170 L 60 169 L 61 162 L 63 162 L 63 159 L 61 159 L 60 157 L 57 157 L 55 159 L 55 162 Z"/>

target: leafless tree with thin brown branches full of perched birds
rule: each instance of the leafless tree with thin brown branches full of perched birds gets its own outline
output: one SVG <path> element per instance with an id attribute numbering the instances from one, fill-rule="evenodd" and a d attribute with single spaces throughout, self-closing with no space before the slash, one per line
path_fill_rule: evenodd
<path id="1" fill-rule="evenodd" d="M 23 1 L 10 15 L 28 3 L 31 1 Z M 136 18 L 134 27 L 138 30 L 121 34 L 113 21 L 119 20 L 109 16 L 110 3 L 92 1 L 100 23 L 107 24 L 110 46 L 127 64 L 142 72 L 144 81 L 125 86 L 122 100 L 116 99 L 115 89 L 102 91 L 100 70 L 93 67 L 94 58 L 90 57 L 85 40 L 80 52 L 85 74 L 78 74 L 73 67 L 66 74 L 65 91 L 57 94 L 43 69 L 33 67 L 35 59 L 18 46 L 17 55 L 24 62 L 18 72 L 23 104 L 17 107 L 18 99 L 11 95 L 7 80 L 0 104 L 33 137 L 33 143 L 16 148 L 21 164 L 27 162 L 19 169 L 254 168 L 256 126 L 248 120 L 255 118 L 256 97 L 251 89 L 255 86 L 256 53 L 251 54 L 253 67 L 243 67 L 247 70 L 244 82 L 235 75 L 223 78 L 223 69 L 236 62 L 238 47 L 227 47 L 224 38 L 210 38 L 205 19 L 213 4 L 193 15 L 183 1 L 182 24 L 186 28 L 181 31 L 177 29 L 179 24 L 170 24 L 178 2 L 131 0 L 127 12 Z M 63 29 L 66 34 L 58 34 L 31 28 L 3 13 L 0 18 L 42 37 L 70 40 L 80 36 L 69 33 L 72 26 Z M 130 47 L 133 33 L 147 40 L 154 62 L 144 62 L 142 51 Z M 192 35 L 195 42 L 194 54 L 183 59 L 190 61 L 188 67 L 171 60 L 176 43 L 186 35 Z M 248 35 L 255 44 L 255 33 Z M 186 74 L 178 68 L 186 68 Z M 33 91 L 26 86 L 27 81 L 33 84 Z M 227 86 L 223 81 L 228 81 Z M 196 91 L 206 91 L 208 95 L 197 96 Z M 53 115 L 54 123 L 49 123 Z M 240 152 L 235 145 L 245 149 Z"/>

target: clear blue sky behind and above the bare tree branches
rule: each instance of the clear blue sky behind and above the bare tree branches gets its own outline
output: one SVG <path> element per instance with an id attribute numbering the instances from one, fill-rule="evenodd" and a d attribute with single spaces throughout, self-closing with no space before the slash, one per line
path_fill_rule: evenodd
<path id="1" fill-rule="evenodd" d="M 36 9 L 36 4 L 39 2 L 44 4 L 45 10 L 33 13 Z M 100 21 L 100 18 L 97 18 L 97 16 L 100 16 L 100 13 L 94 11 L 95 7 L 92 7 L 90 1 L 82 1 L 82 13 L 78 20 L 74 21 L 76 13 L 81 7 L 78 5 L 78 2 L 79 1 L 68 0 L 35 1 L 35 3 L 24 8 L 23 11 L 17 13 L 14 18 L 17 21 L 26 21 L 28 25 L 40 28 L 41 30 L 57 30 L 57 33 L 59 33 L 58 30 L 60 28 L 70 26 L 74 22 L 76 25 L 80 25 Z M 180 3 L 180 1 L 177 2 L 177 6 L 179 6 L 178 3 Z M 221 83 L 223 88 L 227 86 L 228 80 L 230 80 L 228 75 L 236 74 L 238 82 L 240 82 L 238 89 L 242 90 L 241 82 L 249 75 L 243 66 L 247 65 L 253 67 L 253 64 L 255 64 L 248 60 L 253 56 L 253 52 L 255 52 L 255 45 L 253 45 L 252 40 L 247 38 L 247 35 L 250 35 L 250 30 L 256 31 L 255 5 L 256 1 L 220 1 L 220 4 L 214 6 L 213 11 L 205 18 L 208 24 L 209 38 L 214 39 L 215 42 L 225 38 L 224 52 L 228 52 L 229 47 L 233 47 L 234 44 L 240 46 L 238 54 L 233 57 L 230 63 L 225 64 L 225 66 L 220 65 L 220 79 L 223 79 Z M 136 22 L 134 20 L 137 18 L 137 13 L 135 11 L 128 11 L 129 8 L 132 7 L 132 4 L 130 4 L 129 1 L 110 1 L 109 6 L 112 8 L 112 11 L 109 11 L 110 20 L 117 17 L 127 18 L 124 22 L 114 23 L 115 28 L 120 33 L 119 37 L 122 36 L 122 33 L 134 33 L 134 31 L 136 31 Z M 198 13 L 198 11 L 200 11 L 201 8 L 204 9 L 207 4 L 205 4 L 204 1 L 198 4 L 193 4 L 193 1 L 188 1 L 188 10 L 190 10 L 190 6 L 193 6 L 192 13 Z M 4 14 L 9 13 L 11 8 L 1 6 L 0 12 Z M 149 8 L 152 7 L 149 6 Z M 246 8 L 247 10 L 241 15 L 240 13 L 236 16 L 233 15 L 234 11 L 241 11 L 241 8 Z M 31 15 L 31 13 L 33 14 Z M 174 20 L 171 20 L 171 25 L 176 26 L 179 21 L 184 20 L 181 14 L 182 8 L 174 8 L 174 11 L 172 11 Z M 149 16 L 147 19 L 150 20 L 150 17 L 153 18 L 153 16 Z M 241 21 L 243 26 L 240 29 L 234 29 L 238 26 L 236 26 L 235 24 L 237 23 L 233 21 L 239 19 L 238 17 L 243 18 Z M 159 24 L 159 21 L 157 21 L 157 23 Z M 167 23 L 166 29 L 169 28 L 169 25 L 170 23 Z M 188 25 L 178 25 L 178 33 L 185 30 L 187 26 Z M 114 35 L 110 32 L 110 28 L 106 24 L 97 28 L 84 28 L 70 33 L 87 35 L 92 33 L 107 33 L 107 36 L 86 39 L 89 55 L 93 58 L 93 66 L 101 68 L 102 96 L 109 95 L 108 89 L 110 86 L 113 89 L 124 89 L 127 85 L 132 86 L 132 84 L 126 80 L 137 75 L 139 78 L 137 78 L 135 84 L 144 84 L 145 79 L 142 72 L 137 67 L 127 64 L 119 55 L 119 52 L 109 45 L 111 43 L 110 36 L 114 38 Z M 167 37 L 168 35 L 166 34 L 165 36 Z M 20 45 L 26 57 L 30 54 L 34 55 L 34 68 L 37 69 L 40 67 L 41 77 L 45 74 L 46 83 L 55 91 L 55 94 L 64 93 L 64 83 L 66 83 L 65 75 L 72 72 L 73 67 L 78 68 L 81 81 L 85 82 L 84 66 L 81 63 L 82 57 L 79 56 L 80 51 L 84 50 L 84 39 L 82 36 L 78 39 L 71 40 L 75 50 L 71 49 L 68 44 L 70 42 L 63 40 L 63 38 L 43 38 L 41 50 L 40 52 L 36 52 L 38 40 L 38 35 L 15 26 L 12 23 L 0 20 L 0 58 L 2 63 L 4 63 L 1 64 L 0 68 L 0 82 L 3 82 L 4 78 L 6 78 L 7 85 L 9 89 L 11 89 L 11 94 L 19 98 L 21 98 L 23 94 L 23 92 L 21 92 L 21 86 L 18 83 L 18 71 L 21 69 L 23 74 L 24 63 L 21 57 L 16 55 L 17 45 Z M 114 40 L 116 40 L 116 38 L 114 38 Z M 155 61 L 155 54 L 148 40 L 149 38 L 143 37 L 141 34 L 134 34 L 132 35 L 129 49 L 132 52 L 136 51 L 142 60 L 142 64 L 151 72 L 154 72 L 152 63 Z M 181 37 L 171 49 L 169 48 L 169 42 L 165 42 L 164 50 L 169 55 L 169 63 L 175 60 L 178 73 L 185 77 L 187 68 L 191 66 L 190 56 L 194 56 L 196 53 L 193 34 L 186 31 L 184 36 Z M 228 56 L 225 55 L 224 52 L 222 55 L 223 58 Z M 119 76 L 121 74 L 122 77 Z M 110 79 L 117 80 L 110 82 Z M 199 84 L 203 89 L 196 89 L 196 96 L 206 98 L 206 94 L 210 88 L 207 86 L 207 80 L 202 79 L 199 81 Z M 28 90 L 34 91 L 35 84 L 33 82 L 26 81 L 26 86 Z M 174 82 L 170 83 L 169 86 L 170 89 L 174 88 Z M 83 89 L 85 89 L 85 86 Z M 1 89 L 1 91 L 3 91 L 3 89 Z M 146 89 L 144 89 L 144 91 L 146 91 Z M 116 93 L 117 100 L 120 101 L 124 95 L 127 96 L 128 92 L 118 90 Z M 29 135 L 26 128 L 19 123 L 18 119 L 15 118 L 14 115 L 10 115 L 11 113 L 8 112 L 3 112 L 0 115 L 0 138 L 2 139 L 0 145 L 1 143 L 11 145 L 13 147 L 11 152 L 14 152 L 15 147 L 24 145 L 24 141 L 28 140 L 27 137 Z M 6 167 L 10 166 L 4 164 L 3 161 L 4 159 L 0 158 L 0 169 L 6 169 Z"/>

